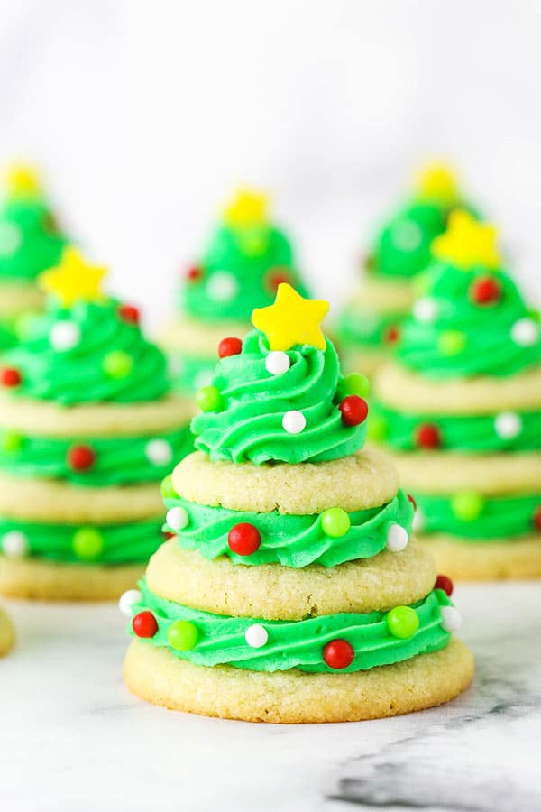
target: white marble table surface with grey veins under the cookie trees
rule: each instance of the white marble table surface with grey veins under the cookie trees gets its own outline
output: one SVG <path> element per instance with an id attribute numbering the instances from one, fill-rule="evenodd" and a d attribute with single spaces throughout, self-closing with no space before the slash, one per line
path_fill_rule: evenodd
<path id="1" fill-rule="evenodd" d="M 377 722 L 243 724 L 128 694 L 112 605 L 5 602 L 0 809 L 541 809 L 541 584 L 460 586 L 473 686 L 442 708 Z"/>

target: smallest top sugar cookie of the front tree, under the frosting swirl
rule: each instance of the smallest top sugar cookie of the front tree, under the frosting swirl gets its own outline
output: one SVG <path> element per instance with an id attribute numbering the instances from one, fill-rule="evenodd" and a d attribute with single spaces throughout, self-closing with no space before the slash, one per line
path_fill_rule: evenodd
<path id="1" fill-rule="evenodd" d="M 363 448 L 351 457 L 322 463 L 254 466 L 212 462 L 196 451 L 172 475 L 173 487 L 188 502 L 221 505 L 233 511 L 306 515 L 326 508 L 361 511 L 390 502 L 399 488 L 389 457 Z"/>

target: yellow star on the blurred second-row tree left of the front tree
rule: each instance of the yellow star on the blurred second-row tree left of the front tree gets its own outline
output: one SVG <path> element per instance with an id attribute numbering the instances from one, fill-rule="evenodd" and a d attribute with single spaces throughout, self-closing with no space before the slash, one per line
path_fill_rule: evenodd
<path id="1" fill-rule="evenodd" d="M 64 248 L 60 265 L 40 274 L 41 289 L 52 293 L 65 308 L 76 301 L 101 301 L 105 268 L 88 265 L 73 245 Z"/>

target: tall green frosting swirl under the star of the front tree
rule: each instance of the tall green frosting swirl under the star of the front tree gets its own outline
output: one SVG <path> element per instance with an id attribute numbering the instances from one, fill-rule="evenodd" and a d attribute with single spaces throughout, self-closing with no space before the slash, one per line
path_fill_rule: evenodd
<path id="1" fill-rule="evenodd" d="M 221 394 L 221 411 L 206 411 L 192 420 L 196 447 L 212 460 L 256 465 L 269 461 L 321 462 L 348 457 L 362 447 L 366 420 L 348 427 L 342 421 L 338 394 L 343 382 L 335 347 L 294 346 L 289 369 L 271 374 L 265 367 L 267 339 L 253 330 L 243 352 L 222 358 L 214 385 Z M 306 427 L 289 434 L 282 426 L 288 411 L 301 411 Z"/>

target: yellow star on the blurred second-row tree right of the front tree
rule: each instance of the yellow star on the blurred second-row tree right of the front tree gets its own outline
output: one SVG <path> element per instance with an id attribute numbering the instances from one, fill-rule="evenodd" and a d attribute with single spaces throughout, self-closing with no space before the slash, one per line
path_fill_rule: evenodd
<path id="1" fill-rule="evenodd" d="M 437 259 L 447 260 L 463 271 L 474 265 L 499 268 L 501 258 L 496 247 L 498 232 L 494 226 L 479 223 L 467 211 L 454 211 L 449 217 L 445 234 L 431 245 Z"/>

